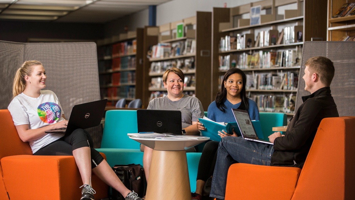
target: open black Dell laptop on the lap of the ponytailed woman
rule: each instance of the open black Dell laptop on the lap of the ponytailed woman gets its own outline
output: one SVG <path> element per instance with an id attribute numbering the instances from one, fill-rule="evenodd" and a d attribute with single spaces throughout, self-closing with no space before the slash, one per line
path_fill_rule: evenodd
<path id="1" fill-rule="evenodd" d="M 107 99 L 73 106 L 66 128 L 45 131 L 45 133 L 72 133 L 78 128 L 91 128 L 100 125 Z"/>

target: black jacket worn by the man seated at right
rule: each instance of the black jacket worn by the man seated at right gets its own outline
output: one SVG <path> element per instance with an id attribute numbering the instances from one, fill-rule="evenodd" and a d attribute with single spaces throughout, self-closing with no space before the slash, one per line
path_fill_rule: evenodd
<path id="1" fill-rule="evenodd" d="M 302 168 L 322 119 L 339 117 L 329 87 L 302 96 L 302 100 L 303 103 L 288 125 L 285 136 L 274 140 L 274 153 L 271 156 L 273 166 Z"/>

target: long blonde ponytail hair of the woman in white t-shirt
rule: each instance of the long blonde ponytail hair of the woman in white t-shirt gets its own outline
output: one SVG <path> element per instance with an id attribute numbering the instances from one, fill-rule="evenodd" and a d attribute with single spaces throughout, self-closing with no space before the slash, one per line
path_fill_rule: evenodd
<path id="1" fill-rule="evenodd" d="M 24 62 L 19 69 L 17 69 L 15 78 L 13 79 L 13 88 L 12 88 L 12 98 L 15 98 L 15 96 L 21 94 L 24 89 L 26 89 L 26 80 L 24 77 L 31 76 L 33 72 L 32 66 L 35 65 L 42 65 L 41 62 L 37 60 L 29 60 Z"/>

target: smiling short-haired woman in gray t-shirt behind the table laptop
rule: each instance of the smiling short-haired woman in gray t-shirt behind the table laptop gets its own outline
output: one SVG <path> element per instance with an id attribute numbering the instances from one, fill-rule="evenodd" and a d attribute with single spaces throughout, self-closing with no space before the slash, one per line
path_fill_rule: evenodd
<path id="1" fill-rule="evenodd" d="M 155 98 L 149 102 L 147 109 L 180 110 L 181 124 L 186 135 L 200 135 L 197 129 L 197 120 L 204 116 L 203 107 L 196 97 L 182 94 L 184 91 L 184 73 L 178 68 L 171 68 L 163 75 L 164 88 L 167 96 Z M 153 149 L 144 146 L 143 166 L 148 181 Z"/>

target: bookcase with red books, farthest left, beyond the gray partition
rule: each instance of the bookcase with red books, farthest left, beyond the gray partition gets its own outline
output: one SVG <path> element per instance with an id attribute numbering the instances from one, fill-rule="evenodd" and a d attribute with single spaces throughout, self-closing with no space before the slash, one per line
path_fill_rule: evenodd
<path id="1" fill-rule="evenodd" d="M 115 106 L 122 98 L 126 102 L 142 99 L 143 31 L 137 28 L 97 41 L 100 95 L 108 99 L 107 106 Z"/>

